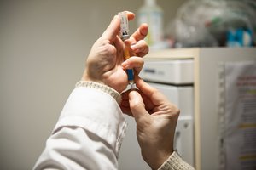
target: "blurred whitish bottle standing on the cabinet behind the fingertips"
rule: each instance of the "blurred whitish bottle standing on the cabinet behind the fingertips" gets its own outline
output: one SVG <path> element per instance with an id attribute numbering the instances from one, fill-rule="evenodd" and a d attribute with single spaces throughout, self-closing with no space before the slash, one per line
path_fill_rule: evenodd
<path id="1" fill-rule="evenodd" d="M 145 0 L 142 8 L 138 10 L 138 25 L 148 24 L 146 42 L 149 46 L 157 46 L 163 40 L 163 11 L 155 0 Z"/>

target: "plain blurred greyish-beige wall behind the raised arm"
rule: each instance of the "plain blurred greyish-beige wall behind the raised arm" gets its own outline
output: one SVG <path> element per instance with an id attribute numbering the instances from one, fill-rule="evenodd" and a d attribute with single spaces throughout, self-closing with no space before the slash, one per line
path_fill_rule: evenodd
<path id="1" fill-rule="evenodd" d="M 158 3 L 169 21 L 183 1 Z M 137 0 L 0 2 L 0 167 L 31 169 L 79 81 L 90 47 Z M 131 22 L 135 31 L 136 21 Z"/>

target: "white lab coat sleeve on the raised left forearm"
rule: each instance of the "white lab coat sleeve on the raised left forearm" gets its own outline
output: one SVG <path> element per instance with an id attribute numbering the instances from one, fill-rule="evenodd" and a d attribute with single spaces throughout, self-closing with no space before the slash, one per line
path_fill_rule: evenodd
<path id="1" fill-rule="evenodd" d="M 126 126 L 111 95 L 75 88 L 33 169 L 118 169 Z"/>

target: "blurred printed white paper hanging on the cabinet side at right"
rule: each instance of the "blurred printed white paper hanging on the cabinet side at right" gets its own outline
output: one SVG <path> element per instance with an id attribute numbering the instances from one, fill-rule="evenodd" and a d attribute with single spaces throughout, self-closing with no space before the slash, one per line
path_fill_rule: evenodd
<path id="1" fill-rule="evenodd" d="M 256 169 L 256 63 L 224 63 L 219 79 L 220 168 Z"/>

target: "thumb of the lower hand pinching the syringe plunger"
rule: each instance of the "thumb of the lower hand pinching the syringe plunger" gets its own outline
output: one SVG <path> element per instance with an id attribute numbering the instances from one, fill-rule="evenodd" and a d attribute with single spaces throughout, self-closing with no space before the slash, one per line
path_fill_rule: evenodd
<path id="1" fill-rule="evenodd" d="M 131 113 L 136 122 L 140 122 L 142 119 L 149 116 L 148 111 L 145 109 L 143 98 L 137 91 L 131 90 L 129 94 L 129 104 Z"/>

